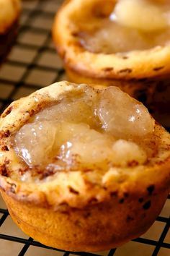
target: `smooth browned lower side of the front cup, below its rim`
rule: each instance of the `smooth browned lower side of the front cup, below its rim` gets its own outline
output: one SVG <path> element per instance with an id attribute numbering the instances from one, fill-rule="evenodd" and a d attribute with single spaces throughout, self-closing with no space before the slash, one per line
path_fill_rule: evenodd
<path id="1" fill-rule="evenodd" d="M 42 244 L 69 251 L 97 252 L 115 248 L 143 234 L 158 216 L 168 191 L 140 200 L 126 197 L 83 209 L 63 206 L 60 210 L 18 202 L 1 192 L 13 220 Z"/>

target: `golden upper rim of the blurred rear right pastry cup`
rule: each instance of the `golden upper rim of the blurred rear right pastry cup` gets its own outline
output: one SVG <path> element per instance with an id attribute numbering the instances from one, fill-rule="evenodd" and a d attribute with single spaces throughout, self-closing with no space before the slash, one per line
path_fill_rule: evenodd
<path id="1" fill-rule="evenodd" d="M 53 25 L 53 39 L 68 69 L 94 79 L 142 79 L 162 77 L 170 72 L 170 46 L 157 46 L 146 51 L 130 51 L 117 54 L 93 54 L 86 51 L 76 38 L 79 27 L 76 22 L 91 19 L 95 25 L 94 6 L 115 0 L 70 0 L 58 11 Z M 80 9 L 84 12 L 80 12 Z M 82 18 L 83 17 L 83 18 Z M 92 17 L 92 18 L 91 18 Z M 81 18 L 81 19 L 80 19 Z M 80 19 L 80 20 L 79 20 Z M 74 21 L 74 22 L 73 22 Z"/>

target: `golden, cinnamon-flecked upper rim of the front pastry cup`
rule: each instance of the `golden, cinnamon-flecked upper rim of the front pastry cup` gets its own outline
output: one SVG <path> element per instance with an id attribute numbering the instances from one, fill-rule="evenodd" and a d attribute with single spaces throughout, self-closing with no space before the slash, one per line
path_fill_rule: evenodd
<path id="1" fill-rule="evenodd" d="M 158 139 L 158 153 L 143 166 L 121 168 L 120 182 L 115 179 L 112 168 L 104 175 L 94 172 L 92 180 L 91 174 L 79 170 L 60 172 L 55 179 L 36 183 L 32 180 L 22 182 L 19 179 L 20 173 L 25 169 L 25 163 L 17 158 L 14 152 L 12 135 L 30 120 L 30 116 L 49 103 L 58 102 L 64 94 L 73 93 L 76 86 L 68 82 L 58 82 L 32 93 L 27 98 L 14 101 L 6 108 L 0 119 L 1 189 L 16 200 L 56 209 L 63 204 L 84 208 L 85 205 L 111 200 L 112 195 L 116 195 L 117 200 L 124 199 L 127 193 L 130 197 L 138 198 L 141 194 L 146 195 L 151 186 L 156 192 L 169 188 L 170 137 L 158 124 L 153 135 Z M 103 87 L 97 88 L 104 90 Z"/>

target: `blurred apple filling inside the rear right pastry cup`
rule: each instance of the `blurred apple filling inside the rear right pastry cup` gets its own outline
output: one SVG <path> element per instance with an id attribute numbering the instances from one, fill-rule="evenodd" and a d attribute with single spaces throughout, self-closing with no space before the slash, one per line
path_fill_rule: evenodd
<path id="1" fill-rule="evenodd" d="M 110 2 L 106 1 L 104 4 Z M 123 53 L 167 46 L 170 41 L 170 3 L 168 0 L 118 0 L 113 11 L 96 23 L 81 28 L 79 40 L 82 46 L 94 53 Z M 103 7 L 104 8 L 104 7 Z M 108 8 L 107 12 L 108 12 Z M 94 19 L 94 18 L 93 18 Z M 82 25 L 81 25 L 82 26 Z"/>

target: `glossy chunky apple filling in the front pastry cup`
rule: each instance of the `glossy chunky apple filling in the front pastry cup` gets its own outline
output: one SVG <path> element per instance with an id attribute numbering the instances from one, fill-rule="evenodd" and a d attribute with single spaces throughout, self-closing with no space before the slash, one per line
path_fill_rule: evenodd
<path id="1" fill-rule="evenodd" d="M 106 170 L 145 164 L 151 153 L 144 141 L 153 130 L 146 107 L 119 88 L 79 85 L 24 124 L 14 145 L 30 167 Z"/>

